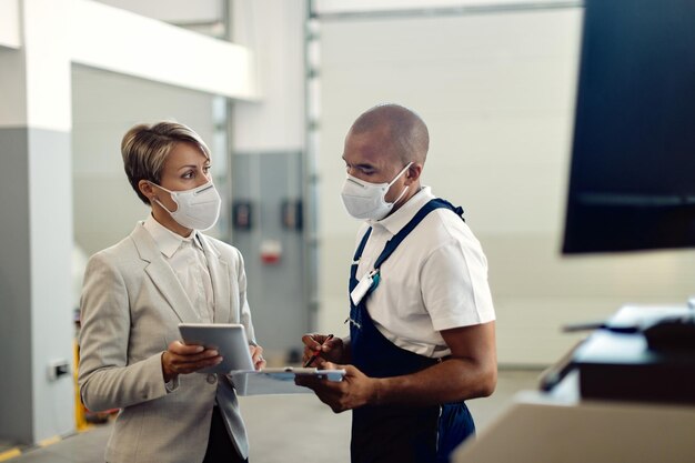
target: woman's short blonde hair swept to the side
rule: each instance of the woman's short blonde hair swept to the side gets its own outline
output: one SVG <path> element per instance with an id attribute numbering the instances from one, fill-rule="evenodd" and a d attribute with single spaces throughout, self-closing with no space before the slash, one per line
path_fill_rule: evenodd
<path id="1" fill-rule="evenodd" d="M 200 135 L 178 122 L 142 123 L 123 135 L 121 141 L 123 169 L 130 185 L 145 204 L 149 205 L 150 201 L 138 187 L 140 180 L 159 184 L 167 157 L 177 143 L 181 142 L 195 144 L 205 158 L 210 159 L 210 149 Z"/>

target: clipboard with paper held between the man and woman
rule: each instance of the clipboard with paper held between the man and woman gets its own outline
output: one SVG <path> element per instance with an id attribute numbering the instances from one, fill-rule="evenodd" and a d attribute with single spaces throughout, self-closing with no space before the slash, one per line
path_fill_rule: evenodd
<path id="1" fill-rule="evenodd" d="M 294 376 L 309 374 L 328 381 L 342 381 L 345 370 L 319 370 L 306 368 L 268 368 L 264 370 L 236 370 L 230 372 L 239 395 L 306 394 L 309 387 L 294 384 Z"/>

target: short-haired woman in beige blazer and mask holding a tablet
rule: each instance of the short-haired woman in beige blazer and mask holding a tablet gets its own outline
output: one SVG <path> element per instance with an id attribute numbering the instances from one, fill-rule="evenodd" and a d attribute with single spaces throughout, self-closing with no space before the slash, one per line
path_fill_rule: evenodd
<path id="1" fill-rule="evenodd" d="M 108 462 L 244 462 L 248 442 L 233 384 L 197 373 L 222 358 L 185 345 L 179 323 L 241 323 L 255 345 L 240 252 L 201 233 L 220 195 L 210 151 L 185 125 L 133 127 L 121 143 L 128 180 L 151 207 L 118 244 L 85 270 L 79 386 L 92 411 L 121 409 Z M 194 374 L 192 374 L 194 373 Z"/>

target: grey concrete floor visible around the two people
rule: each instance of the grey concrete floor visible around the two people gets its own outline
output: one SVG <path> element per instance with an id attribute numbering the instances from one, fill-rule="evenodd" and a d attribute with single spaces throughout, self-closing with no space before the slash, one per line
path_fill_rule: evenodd
<path id="1" fill-rule="evenodd" d="M 502 370 L 487 399 L 469 402 L 479 432 L 484 432 L 511 405 L 521 390 L 536 389 L 541 371 Z M 252 463 L 348 462 L 350 413 L 334 414 L 313 394 L 241 397 Z M 95 463 L 103 461 L 110 424 L 67 436 L 41 449 L 10 457 L 12 463 Z M 1 454 L 1 453 L 0 453 Z"/>

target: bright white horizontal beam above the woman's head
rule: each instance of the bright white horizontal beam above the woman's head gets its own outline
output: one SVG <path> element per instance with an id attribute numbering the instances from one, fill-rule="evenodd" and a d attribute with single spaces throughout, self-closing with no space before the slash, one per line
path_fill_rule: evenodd
<path id="1" fill-rule="evenodd" d="M 89 0 L 69 4 L 73 63 L 229 98 L 258 98 L 253 53 L 244 47 Z"/>

